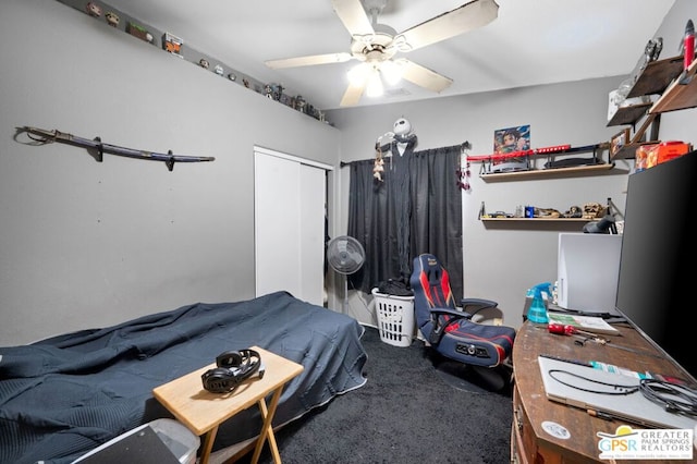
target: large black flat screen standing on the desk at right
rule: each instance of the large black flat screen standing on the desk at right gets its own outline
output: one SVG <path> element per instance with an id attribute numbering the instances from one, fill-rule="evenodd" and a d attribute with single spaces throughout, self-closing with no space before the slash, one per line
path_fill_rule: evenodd
<path id="1" fill-rule="evenodd" d="M 697 151 L 629 175 L 616 309 L 697 378 Z"/>

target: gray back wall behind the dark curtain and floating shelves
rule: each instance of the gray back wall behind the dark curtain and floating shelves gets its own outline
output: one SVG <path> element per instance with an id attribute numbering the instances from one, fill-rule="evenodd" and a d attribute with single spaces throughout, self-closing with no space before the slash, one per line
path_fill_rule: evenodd
<path id="1" fill-rule="evenodd" d="M 677 1 L 659 29 L 664 39 L 662 58 L 677 54 L 677 45 L 689 17 L 697 8 L 688 0 Z M 651 38 L 647 34 L 647 41 Z M 643 53 L 637 48 L 637 60 Z M 392 129 L 401 117 L 408 119 L 418 136 L 416 149 L 451 146 L 469 141 L 470 155 L 492 151 L 498 129 L 530 124 L 531 146 L 561 144 L 586 146 L 608 142 L 622 126 L 607 127 L 608 94 L 627 76 L 519 88 L 454 98 L 436 98 L 409 105 L 329 111 L 328 117 L 341 130 L 344 161 L 375 156 L 376 138 Z M 697 110 L 665 113 L 660 137 L 695 143 Z M 577 156 L 588 156 L 578 154 Z M 543 162 L 543 160 L 541 160 Z M 538 161 L 540 162 L 540 161 Z M 617 160 L 616 168 L 601 175 L 563 179 L 519 180 L 486 183 L 478 176 L 479 163 L 473 163 L 472 191 L 463 193 L 463 246 L 465 296 L 489 297 L 499 302 L 506 325 L 518 327 L 525 291 L 540 282 L 557 279 L 557 246 L 560 232 L 579 232 L 578 223 L 529 227 L 487 227 L 477 219 L 485 203 L 487 211 L 513 212 L 516 205 L 534 205 L 565 211 L 572 205 L 588 202 L 604 204 L 607 198 L 624 212 L 627 175 L 633 160 Z M 342 210 L 347 205 L 348 170 L 342 171 Z M 344 217 L 345 221 L 345 217 Z M 345 230 L 345 222 L 343 225 Z M 599 264 L 601 266 L 602 264 Z M 389 276 L 388 276 L 389 277 Z M 387 277 L 386 277 L 387 278 Z M 375 315 L 365 295 L 353 295 L 351 313 L 368 323 Z"/>

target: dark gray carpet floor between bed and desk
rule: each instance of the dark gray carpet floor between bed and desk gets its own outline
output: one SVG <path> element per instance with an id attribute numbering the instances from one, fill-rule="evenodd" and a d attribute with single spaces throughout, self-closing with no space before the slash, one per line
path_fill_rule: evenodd
<path id="1" fill-rule="evenodd" d="M 418 340 L 393 346 L 366 328 L 362 341 L 367 383 L 280 430 L 283 463 L 510 463 L 509 383 L 492 391 Z"/>

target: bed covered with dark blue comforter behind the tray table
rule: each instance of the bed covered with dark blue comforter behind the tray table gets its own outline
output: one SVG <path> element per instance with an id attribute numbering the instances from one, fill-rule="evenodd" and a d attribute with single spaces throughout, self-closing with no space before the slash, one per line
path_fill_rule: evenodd
<path id="1" fill-rule="evenodd" d="M 363 330 L 347 316 L 277 292 L 0 347 L 0 463 L 69 463 L 134 427 L 172 417 L 152 396 L 155 387 L 253 345 L 305 367 L 281 396 L 273 425 L 285 424 L 365 384 Z M 213 451 L 260 427 L 258 408 L 250 407 L 220 426 Z"/>

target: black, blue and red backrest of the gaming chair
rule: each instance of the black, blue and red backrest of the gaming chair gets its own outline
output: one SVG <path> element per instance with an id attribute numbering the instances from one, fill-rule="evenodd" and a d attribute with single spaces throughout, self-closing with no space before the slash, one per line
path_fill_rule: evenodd
<path id="1" fill-rule="evenodd" d="M 431 330 L 431 313 L 435 307 L 455 309 L 455 298 L 450 288 L 448 270 L 438 258 L 425 253 L 414 258 L 414 270 L 409 279 L 414 292 L 416 323 L 428 339 Z"/>

